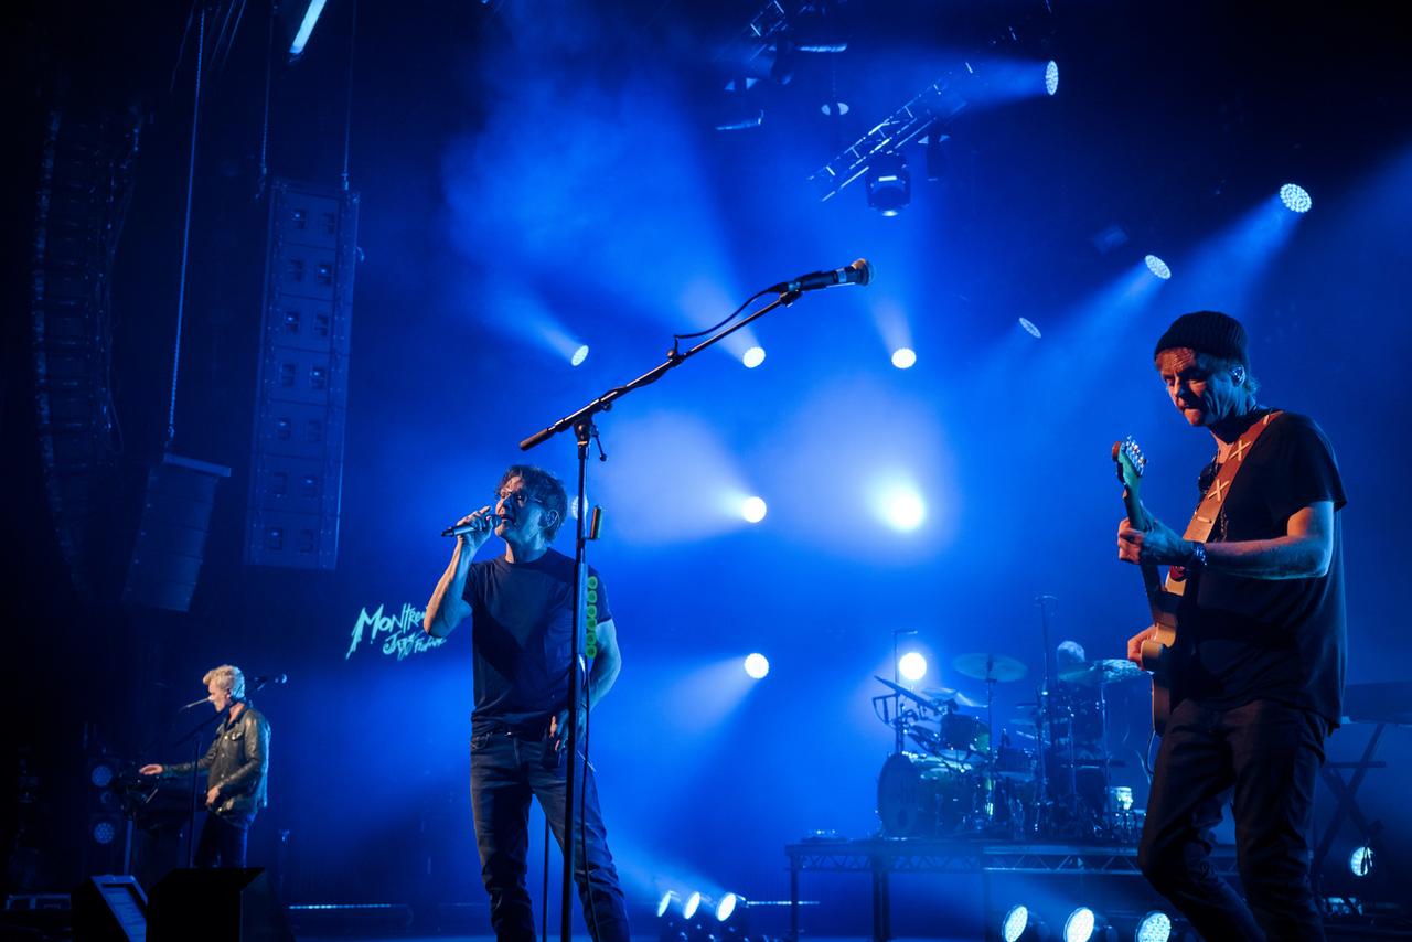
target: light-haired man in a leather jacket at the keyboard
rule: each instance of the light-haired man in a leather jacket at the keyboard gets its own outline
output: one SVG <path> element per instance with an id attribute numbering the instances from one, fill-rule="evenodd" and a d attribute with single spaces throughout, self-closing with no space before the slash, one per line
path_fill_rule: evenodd
<path id="1" fill-rule="evenodd" d="M 143 775 L 206 774 L 206 821 L 196 845 L 198 867 L 246 866 L 246 837 L 256 812 L 268 802 L 270 723 L 246 699 L 246 676 L 223 664 L 201 678 L 210 705 L 229 715 L 216 727 L 216 741 L 199 761 L 176 765 L 143 765 Z M 198 700 L 199 703 L 201 700 Z"/>

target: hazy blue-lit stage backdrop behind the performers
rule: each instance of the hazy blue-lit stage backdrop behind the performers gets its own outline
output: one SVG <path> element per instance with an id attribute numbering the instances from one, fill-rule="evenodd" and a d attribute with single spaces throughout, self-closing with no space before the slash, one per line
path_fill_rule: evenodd
<path id="1" fill-rule="evenodd" d="M 674 330 L 858 256 L 875 284 L 802 298 L 600 422 L 610 460 L 593 462 L 590 500 L 607 517 L 592 558 L 624 671 L 594 712 L 592 751 L 635 905 L 693 888 L 779 898 L 785 843 L 875 830 L 891 733 L 870 698 L 882 692 L 873 675 L 891 676 L 894 631 L 916 631 L 902 643 L 932 664 L 923 686 L 983 696 L 950 668 L 966 652 L 1027 662 L 1029 676 L 998 689 L 1003 725 L 1034 699 L 1038 595 L 1058 597 L 1056 643 L 1121 657 L 1145 609 L 1137 572 L 1114 561 L 1108 446 L 1144 443 L 1148 503 L 1175 525 L 1211 451 L 1151 367 L 1182 311 L 1243 318 L 1262 398 L 1329 434 L 1350 497 L 1348 681 L 1406 678 L 1406 28 L 1382 4 L 1051 6 L 842 4 L 847 51 L 764 82 L 764 123 L 722 133 L 720 49 L 757 11 L 748 3 L 360 3 L 339 565 L 298 572 L 241 562 L 267 213 L 268 10 L 250 3 L 208 75 L 175 438 L 233 476 L 191 612 L 174 614 L 117 599 L 171 381 L 188 10 L 27 4 L 10 56 L 23 134 L 0 427 L 10 887 L 72 886 L 88 756 L 181 758 L 174 708 L 201 695 L 206 668 L 234 662 L 289 676 L 256 696 L 274 741 L 251 847 L 287 900 L 479 902 L 469 633 L 384 647 L 408 619 L 417 637 L 449 555 L 436 532 L 486 503 L 515 442 L 659 363 Z M 332 0 L 304 59 L 273 65 L 273 175 L 339 184 L 352 13 Z M 898 216 L 870 209 L 863 181 L 818 199 L 809 174 L 963 62 L 1000 78 L 949 127 L 939 179 L 914 144 Z M 830 100 L 849 113 L 822 114 Z M 143 116 L 113 267 L 123 445 L 95 472 L 95 538 L 78 566 L 42 487 L 25 314 L 38 141 L 56 105 Z M 1291 181 L 1313 196 L 1303 216 L 1275 198 Z M 1169 281 L 1147 253 L 1171 264 Z M 768 354 L 754 370 L 738 360 L 746 336 Z M 583 366 L 562 338 L 590 345 Z M 890 364 L 899 345 L 915 367 Z M 572 482 L 572 451 L 558 438 L 528 458 Z M 758 525 L 736 510 L 747 494 L 768 503 Z M 907 494 L 925 517 L 901 531 L 885 511 Z M 378 613 L 374 637 L 364 616 Z M 740 669 L 751 651 L 770 658 L 764 681 Z M 1114 692 L 1120 778 L 1139 804 L 1144 688 Z M 1370 732 L 1340 730 L 1330 754 L 1357 756 Z M 1360 792 L 1394 845 L 1412 833 L 1408 754 L 1406 730 L 1389 730 L 1388 768 Z M 1326 792 L 1320 802 L 1326 815 Z M 866 891 L 830 890 L 840 931 L 866 926 Z M 971 894 L 918 887 L 907 918 L 926 925 Z"/>

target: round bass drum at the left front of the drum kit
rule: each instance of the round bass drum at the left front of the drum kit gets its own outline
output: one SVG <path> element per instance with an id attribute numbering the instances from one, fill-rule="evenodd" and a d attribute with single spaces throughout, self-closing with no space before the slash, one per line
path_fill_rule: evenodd
<path id="1" fill-rule="evenodd" d="M 943 758 L 894 753 L 878 774 L 878 819 L 888 837 L 956 833 L 974 804 L 964 771 Z"/>

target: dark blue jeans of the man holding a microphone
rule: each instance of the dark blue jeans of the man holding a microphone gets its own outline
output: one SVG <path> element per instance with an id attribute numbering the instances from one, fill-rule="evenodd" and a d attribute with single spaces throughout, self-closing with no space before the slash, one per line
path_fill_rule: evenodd
<path id="1" fill-rule="evenodd" d="M 470 740 L 470 805 L 476 819 L 480 877 L 490 894 L 490 924 L 497 939 L 527 942 L 535 938 L 534 910 L 525 888 L 530 849 L 530 798 L 539 799 L 549 826 L 563 849 L 563 802 L 568 765 L 561 756 L 545 767 L 541 740 L 518 739 L 504 732 L 476 733 Z M 589 934 L 597 942 L 628 938 L 627 907 L 617 870 L 609 853 L 607 832 L 599 812 L 593 767 L 575 780 L 573 804 L 583 801 L 583 829 L 575 823 L 573 876 Z M 576 818 L 578 822 L 578 818 Z"/>

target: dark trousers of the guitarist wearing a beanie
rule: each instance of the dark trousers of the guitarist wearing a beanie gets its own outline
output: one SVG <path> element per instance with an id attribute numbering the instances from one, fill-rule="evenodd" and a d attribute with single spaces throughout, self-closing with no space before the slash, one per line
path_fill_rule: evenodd
<path id="1" fill-rule="evenodd" d="M 1207 942 L 1324 938 L 1308 840 L 1323 740 L 1319 716 L 1272 700 L 1172 710 L 1138 864 Z M 1226 797 L 1245 901 L 1207 861 Z"/>

